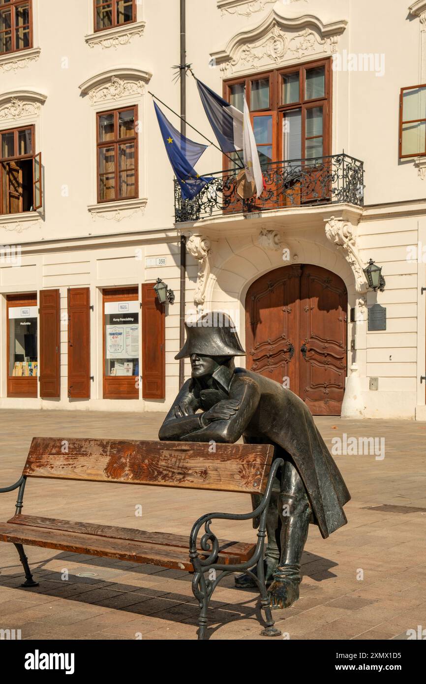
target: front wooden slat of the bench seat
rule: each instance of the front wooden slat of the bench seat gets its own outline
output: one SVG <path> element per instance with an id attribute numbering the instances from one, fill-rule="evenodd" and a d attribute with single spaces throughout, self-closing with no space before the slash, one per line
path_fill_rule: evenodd
<path id="1" fill-rule="evenodd" d="M 90 534 L 40 529 L 10 523 L 0 523 L 0 541 L 72 553 L 87 553 L 134 563 L 148 563 L 189 572 L 194 570 L 188 551 L 185 552 L 179 547 L 163 547 L 159 544 L 142 544 L 124 539 L 107 539 Z M 220 554 L 217 562 L 228 565 L 235 563 L 235 560 L 235 555 Z"/>

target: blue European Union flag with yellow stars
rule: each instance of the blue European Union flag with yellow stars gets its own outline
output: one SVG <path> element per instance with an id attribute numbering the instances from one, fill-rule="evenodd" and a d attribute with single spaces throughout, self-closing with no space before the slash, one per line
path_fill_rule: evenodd
<path id="1" fill-rule="evenodd" d="M 194 164 L 200 159 L 207 145 L 201 145 L 198 142 L 189 140 L 185 135 L 179 133 L 170 121 L 165 118 L 156 103 L 154 103 L 154 107 L 161 135 L 163 136 L 165 151 L 168 153 L 174 174 L 181 186 L 182 195 L 185 200 L 191 200 L 198 195 L 204 185 L 212 180 L 211 178 L 200 176 L 194 170 Z"/>

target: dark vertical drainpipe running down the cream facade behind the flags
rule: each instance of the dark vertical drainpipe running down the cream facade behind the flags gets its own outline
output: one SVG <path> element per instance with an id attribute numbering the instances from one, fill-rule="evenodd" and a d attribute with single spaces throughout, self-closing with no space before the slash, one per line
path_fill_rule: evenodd
<path id="1" fill-rule="evenodd" d="M 186 135 L 187 116 L 187 46 L 186 46 L 186 0 L 181 0 L 181 133 Z M 181 308 L 179 312 L 179 343 L 185 342 L 185 276 L 187 262 L 187 239 L 181 235 Z M 179 359 L 179 388 L 185 382 L 185 359 Z"/>

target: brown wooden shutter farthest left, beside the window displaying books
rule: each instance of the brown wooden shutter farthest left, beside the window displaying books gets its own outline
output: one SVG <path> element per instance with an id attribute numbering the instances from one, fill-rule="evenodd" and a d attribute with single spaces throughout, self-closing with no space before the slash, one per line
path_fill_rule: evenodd
<path id="1" fill-rule="evenodd" d="M 40 397 L 60 397 L 59 290 L 40 290 Z"/>

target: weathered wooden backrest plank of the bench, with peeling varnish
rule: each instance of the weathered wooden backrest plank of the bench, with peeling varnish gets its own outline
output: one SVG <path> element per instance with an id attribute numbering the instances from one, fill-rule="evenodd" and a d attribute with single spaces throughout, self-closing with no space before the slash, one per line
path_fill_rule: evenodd
<path id="1" fill-rule="evenodd" d="M 274 447 L 214 448 L 200 442 L 34 437 L 23 475 L 263 494 Z"/>

